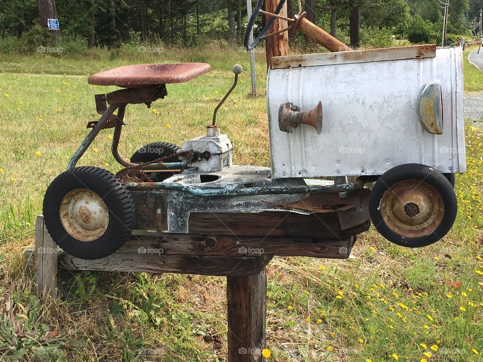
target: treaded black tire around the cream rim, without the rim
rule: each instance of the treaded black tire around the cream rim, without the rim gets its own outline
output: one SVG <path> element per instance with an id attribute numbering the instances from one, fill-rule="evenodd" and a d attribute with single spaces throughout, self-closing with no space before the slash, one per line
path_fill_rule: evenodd
<path id="1" fill-rule="evenodd" d="M 96 193 L 108 208 L 109 224 L 97 240 L 77 240 L 62 226 L 61 202 L 65 195 L 76 189 Z M 82 166 L 65 171 L 52 181 L 45 192 L 43 214 L 50 236 L 64 251 L 81 259 L 99 259 L 116 252 L 129 239 L 135 209 L 129 190 L 116 175 L 103 168 Z"/>

